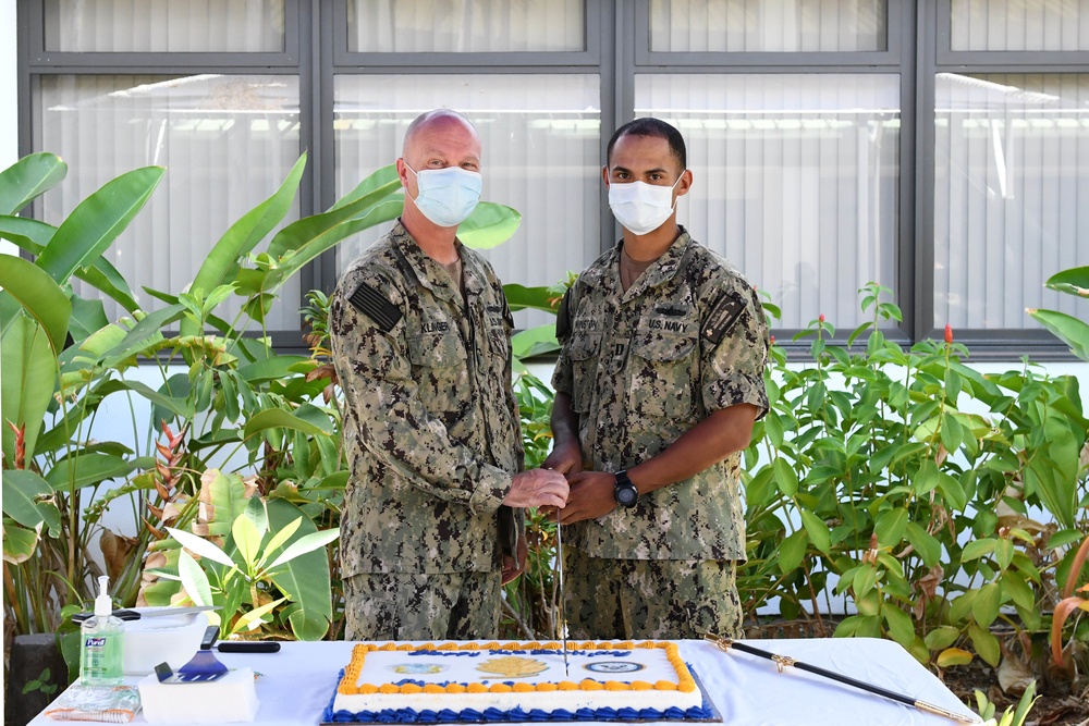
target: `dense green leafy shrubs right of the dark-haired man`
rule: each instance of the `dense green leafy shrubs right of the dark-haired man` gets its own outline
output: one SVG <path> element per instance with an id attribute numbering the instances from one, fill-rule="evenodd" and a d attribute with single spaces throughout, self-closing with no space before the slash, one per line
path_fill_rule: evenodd
<path id="1" fill-rule="evenodd" d="M 872 320 L 851 346 L 828 343 L 821 316 L 799 334 L 807 364 L 773 347 L 771 410 L 746 452 L 746 607 L 779 598 L 783 618 L 831 632 L 839 595 L 854 613 L 836 636 L 886 637 L 939 667 L 1039 670 L 1089 532 L 1077 381 L 1029 364 L 980 374 L 951 330 L 905 350 L 879 328 L 900 316 L 890 291 L 861 294 Z"/>

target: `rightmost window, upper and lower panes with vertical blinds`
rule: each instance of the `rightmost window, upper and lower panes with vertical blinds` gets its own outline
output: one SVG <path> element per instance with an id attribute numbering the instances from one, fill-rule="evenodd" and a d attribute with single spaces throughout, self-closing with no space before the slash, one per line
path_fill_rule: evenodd
<path id="1" fill-rule="evenodd" d="M 920 302 L 982 343 L 1050 343 L 1026 308 L 1077 315 L 1042 283 L 1089 264 L 1089 0 L 939 5 Z"/>

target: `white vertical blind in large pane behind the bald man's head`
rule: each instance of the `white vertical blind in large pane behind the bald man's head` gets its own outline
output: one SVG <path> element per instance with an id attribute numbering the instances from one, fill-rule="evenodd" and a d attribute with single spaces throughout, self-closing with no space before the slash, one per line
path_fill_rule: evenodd
<path id="1" fill-rule="evenodd" d="M 484 198 L 523 214 L 514 237 L 486 257 L 504 282 L 558 282 L 600 249 L 599 83 L 590 74 L 339 75 L 338 195 L 393 163 L 418 114 L 436 106 L 454 109 L 480 134 Z M 390 226 L 341 244 L 338 269 Z M 526 313 L 518 322 L 543 321 Z"/>

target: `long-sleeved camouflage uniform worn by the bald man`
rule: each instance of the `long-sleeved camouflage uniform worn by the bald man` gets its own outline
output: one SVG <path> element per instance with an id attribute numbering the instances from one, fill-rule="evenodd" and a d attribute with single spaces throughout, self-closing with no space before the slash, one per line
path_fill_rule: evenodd
<path id="1" fill-rule="evenodd" d="M 523 468 L 513 320 L 491 266 L 457 250 L 464 296 L 399 221 L 331 302 L 350 640 L 498 635 L 501 557 L 521 526 L 502 504 Z"/>

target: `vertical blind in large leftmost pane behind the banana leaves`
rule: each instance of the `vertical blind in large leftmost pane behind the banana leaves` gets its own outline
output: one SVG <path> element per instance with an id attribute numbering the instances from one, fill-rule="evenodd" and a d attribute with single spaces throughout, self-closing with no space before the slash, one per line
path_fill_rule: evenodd
<path id="1" fill-rule="evenodd" d="M 220 236 L 276 192 L 299 155 L 295 76 L 49 75 L 34 116 L 34 147 L 69 164 L 64 182 L 44 197 L 48 222 L 59 223 L 119 174 L 167 168 L 105 255 L 147 310 L 162 304 L 140 287 L 182 292 Z M 289 219 L 297 218 L 296 208 Z M 270 330 L 298 329 L 298 287 L 296 275 L 282 290 Z M 232 298 L 222 315 L 233 317 L 242 303 Z M 107 302 L 111 320 L 121 315 Z"/>

